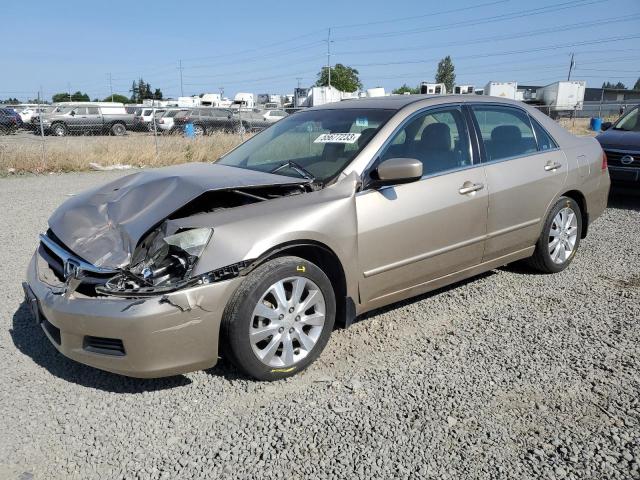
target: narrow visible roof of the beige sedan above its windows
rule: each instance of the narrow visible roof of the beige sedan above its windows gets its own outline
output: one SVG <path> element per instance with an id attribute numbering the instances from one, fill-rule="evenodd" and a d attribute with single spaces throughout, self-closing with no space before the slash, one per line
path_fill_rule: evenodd
<path id="1" fill-rule="evenodd" d="M 371 108 L 401 110 L 407 105 L 421 102 L 424 106 L 442 105 L 449 103 L 487 102 L 504 103 L 505 105 L 517 105 L 522 107 L 523 103 L 516 100 L 509 100 L 502 97 L 491 97 L 489 95 L 391 95 L 389 97 L 373 98 L 353 98 L 342 100 L 341 102 L 327 103 L 312 110 L 337 110 L 350 108 Z"/>

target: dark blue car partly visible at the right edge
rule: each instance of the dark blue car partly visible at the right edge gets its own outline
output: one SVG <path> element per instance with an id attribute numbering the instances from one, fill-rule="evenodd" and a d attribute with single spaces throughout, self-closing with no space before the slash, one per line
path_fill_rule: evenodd
<path id="1" fill-rule="evenodd" d="M 640 186 L 640 105 L 614 123 L 602 124 L 596 137 L 607 154 L 611 182 L 638 189 Z"/>

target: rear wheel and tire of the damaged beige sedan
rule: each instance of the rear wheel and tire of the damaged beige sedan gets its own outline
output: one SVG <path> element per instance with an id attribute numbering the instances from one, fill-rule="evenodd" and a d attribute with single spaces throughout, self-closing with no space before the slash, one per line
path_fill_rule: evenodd
<path id="1" fill-rule="evenodd" d="M 554 232 L 558 232 L 558 235 L 554 235 Z M 580 206 L 572 198 L 560 197 L 549 211 L 536 249 L 527 263 L 540 272 L 561 272 L 575 257 L 581 235 Z"/>

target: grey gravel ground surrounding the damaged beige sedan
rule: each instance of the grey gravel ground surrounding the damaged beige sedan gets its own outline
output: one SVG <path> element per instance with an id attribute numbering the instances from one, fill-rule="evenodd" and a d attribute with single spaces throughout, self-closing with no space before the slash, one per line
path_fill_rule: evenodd
<path id="1" fill-rule="evenodd" d="M 0 478 L 640 478 L 640 198 L 567 271 L 376 311 L 286 381 L 135 380 L 59 355 L 20 287 L 65 194 L 117 175 L 0 180 Z"/>

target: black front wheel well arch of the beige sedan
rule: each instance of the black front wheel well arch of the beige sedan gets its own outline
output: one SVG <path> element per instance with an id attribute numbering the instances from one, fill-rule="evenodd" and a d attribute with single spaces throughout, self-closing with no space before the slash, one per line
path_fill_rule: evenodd
<path id="1" fill-rule="evenodd" d="M 293 255 L 317 265 L 331 281 L 336 297 L 336 323 L 349 326 L 355 316 L 355 305 L 347 298 L 347 279 L 340 259 L 333 250 L 321 243 L 309 242 L 276 247 L 260 263 L 276 257 Z"/>

